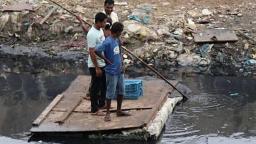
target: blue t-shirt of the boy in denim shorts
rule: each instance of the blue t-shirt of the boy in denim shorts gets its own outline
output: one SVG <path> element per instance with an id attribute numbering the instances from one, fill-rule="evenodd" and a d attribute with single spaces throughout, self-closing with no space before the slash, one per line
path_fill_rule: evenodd
<path id="1" fill-rule="evenodd" d="M 112 63 L 106 65 L 105 72 L 111 75 L 120 74 L 122 69 L 121 49 L 119 47 L 118 39 L 108 36 L 102 44 L 96 47 L 96 51 L 104 52 L 104 56 Z"/>

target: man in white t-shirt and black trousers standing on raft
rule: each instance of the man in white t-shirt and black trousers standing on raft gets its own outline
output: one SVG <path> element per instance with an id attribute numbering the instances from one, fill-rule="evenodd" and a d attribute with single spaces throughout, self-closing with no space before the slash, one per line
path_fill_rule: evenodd
<path id="1" fill-rule="evenodd" d="M 102 42 L 105 40 L 102 28 L 105 27 L 106 22 L 107 15 L 102 12 L 97 13 L 95 15 L 95 24 L 92 26 L 92 28 L 90 28 L 86 37 L 89 50 L 88 67 L 92 76 L 92 85 L 90 88 L 92 115 L 105 115 L 99 110 L 99 100 L 102 100 L 102 102 L 105 103 L 106 76 L 104 68 L 106 63 L 104 60 L 102 60 L 102 58 L 99 58 L 99 56 L 95 56 L 93 51 L 97 45 L 102 44 Z"/>

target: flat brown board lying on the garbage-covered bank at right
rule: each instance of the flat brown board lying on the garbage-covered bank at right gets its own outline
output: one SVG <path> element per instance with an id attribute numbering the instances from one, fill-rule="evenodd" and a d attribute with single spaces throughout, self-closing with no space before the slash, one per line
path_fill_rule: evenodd
<path id="1" fill-rule="evenodd" d="M 206 29 L 193 33 L 195 42 L 236 42 L 236 33 L 229 29 Z"/>

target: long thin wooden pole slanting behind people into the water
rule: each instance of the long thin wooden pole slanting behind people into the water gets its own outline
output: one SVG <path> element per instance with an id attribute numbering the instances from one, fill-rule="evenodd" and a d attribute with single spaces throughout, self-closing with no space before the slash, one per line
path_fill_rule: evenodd
<path id="1" fill-rule="evenodd" d="M 56 3 L 55 1 L 50 0 L 52 3 L 57 4 L 58 6 L 60 6 L 61 8 L 63 8 L 63 10 L 66 10 L 67 12 L 71 13 L 72 15 L 74 15 L 75 17 L 78 17 L 75 13 L 71 12 L 70 10 L 67 10 L 67 8 L 64 8 L 63 6 L 61 6 L 60 4 Z M 92 24 L 89 24 L 88 22 L 84 21 L 86 24 L 88 24 L 89 26 L 92 26 Z M 157 72 L 157 70 L 155 70 L 154 68 L 150 67 L 145 61 L 141 60 L 141 58 L 139 58 L 138 56 L 136 56 L 135 54 L 133 54 L 131 51 L 129 51 L 128 49 L 126 49 L 124 46 L 122 46 L 122 49 L 124 49 L 125 51 L 127 51 L 129 54 L 131 54 L 132 56 L 134 56 L 136 59 L 138 59 L 139 61 L 141 61 L 141 63 L 143 63 L 143 65 L 147 66 L 148 68 L 150 68 L 150 70 L 152 70 L 153 72 L 155 72 L 157 74 L 157 76 L 161 77 L 166 83 L 170 84 L 170 86 L 172 86 L 175 90 L 177 90 L 177 92 L 179 92 L 184 100 L 187 100 L 188 97 L 186 97 L 186 95 L 182 92 L 180 92 L 180 90 L 178 88 L 176 88 L 175 86 L 173 86 L 172 83 L 170 83 L 168 81 L 168 79 L 166 79 L 163 75 L 161 75 L 159 72 Z"/>

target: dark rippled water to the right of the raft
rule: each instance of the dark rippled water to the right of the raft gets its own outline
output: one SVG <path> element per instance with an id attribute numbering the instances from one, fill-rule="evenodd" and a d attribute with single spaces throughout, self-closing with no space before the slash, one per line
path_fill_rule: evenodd
<path id="1" fill-rule="evenodd" d="M 256 79 L 186 77 L 193 92 L 175 109 L 160 143 L 256 143 Z"/>

